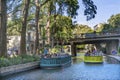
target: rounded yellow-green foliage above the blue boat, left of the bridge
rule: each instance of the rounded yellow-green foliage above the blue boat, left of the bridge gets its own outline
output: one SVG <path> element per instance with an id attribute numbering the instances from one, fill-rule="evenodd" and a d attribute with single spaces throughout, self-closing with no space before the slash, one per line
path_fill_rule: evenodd
<path id="1" fill-rule="evenodd" d="M 68 38 L 72 37 L 72 19 L 66 16 L 58 15 L 56 23 L 54 19 L 51 20 L 51 34 L 58 40 L 67 41 Z"/>

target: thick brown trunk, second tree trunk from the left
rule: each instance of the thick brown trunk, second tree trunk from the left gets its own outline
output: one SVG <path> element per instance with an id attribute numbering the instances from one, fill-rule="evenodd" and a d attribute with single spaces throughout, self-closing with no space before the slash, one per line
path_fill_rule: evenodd
<path id="1" fill-rule="evenodd" d="M 20 41 L 20 54 L 26 54 L 26 26 L 27 26 L 27 17 L 30 0 L 24 0 L 25 7 L 23 10 L 23 21 L 22 21 L 22 31 L 21 31 L 21 41 Z"/>

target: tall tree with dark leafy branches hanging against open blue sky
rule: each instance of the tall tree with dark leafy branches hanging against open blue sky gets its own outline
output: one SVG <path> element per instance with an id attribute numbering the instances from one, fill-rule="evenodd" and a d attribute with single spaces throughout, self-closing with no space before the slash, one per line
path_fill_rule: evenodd
<path id="1" fill-rule="evenodd" d="M 84 14 L 87 16 L 87 20 L 90 20 L 95 17 L 97 7 L 94 5 L 92 0 L 83 0 L 83 4 L 85 5 L 85 11 Z M 77 13 L 77 10 L 79 8 L 78 0 L 52 0 L 48 4 L 48 20 L 46 25 L 46 31 L 48 35 L 48 44 L 50 43 L 50 37 L 52 37 L 52 42 L 54 41 L 53 35 L 49 34 L 49 28 L 50 28 L 50 15 L 54 15 L 54 22 L 56 23 L 56 17 L 58 15 L 61 16 L 69 16 L 71 18 L 75 18 Z M 54 27 L 56 27 L 54 25 Z M 52 28 L 54 32 L 54 28 Z"/>

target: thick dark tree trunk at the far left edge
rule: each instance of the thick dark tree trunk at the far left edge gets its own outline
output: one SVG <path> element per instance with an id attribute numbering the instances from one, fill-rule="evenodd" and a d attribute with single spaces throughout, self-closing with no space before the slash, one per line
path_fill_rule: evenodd
<path id="1" fill-rule="evenodd" d="M 7 56 L 7 0 L 0 0 L 0 56 Z"/>

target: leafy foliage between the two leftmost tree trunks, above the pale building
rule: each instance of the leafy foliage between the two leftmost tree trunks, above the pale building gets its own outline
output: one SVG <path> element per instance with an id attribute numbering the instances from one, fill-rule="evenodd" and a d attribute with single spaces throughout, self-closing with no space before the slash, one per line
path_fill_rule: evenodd
<path id="1" fill-rule="evenodd" d="M 7 34 L 10 35 L 20 35 L 22 27 L 22 9 L 23 0 L 11 0 L 7 1 Z"/>

